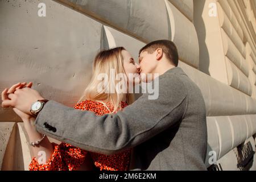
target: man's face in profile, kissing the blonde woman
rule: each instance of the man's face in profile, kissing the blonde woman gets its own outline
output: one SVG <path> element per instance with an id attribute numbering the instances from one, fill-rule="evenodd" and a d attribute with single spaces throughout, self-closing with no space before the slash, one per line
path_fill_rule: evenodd
<path id="1" fill-rule="evenodd" d="M 155 52 L 148 53 L 142 51 L 139 55 L 139 65 L 141 66 L 141 74 L 154 73 L 158 61 L 156 60 Z"/>

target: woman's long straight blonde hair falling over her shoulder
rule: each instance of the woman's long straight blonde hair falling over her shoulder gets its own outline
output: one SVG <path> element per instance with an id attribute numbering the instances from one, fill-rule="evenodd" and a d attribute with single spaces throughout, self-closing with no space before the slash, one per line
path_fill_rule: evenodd
<path id="1" fill-rule="evenodd" d="M 108 88 L 104 88 L 102 92 L 98 92 L 98 85 L 102 84 L 102 80 L 98 79 L 98 75 L 105 73 L 110 77 L 111 69 L 115 70 L 115 76 L 119 73 L 125 75 L 125 69 L 123 68 L 123 57 L 122 51 L 125 50 L 123 47 L 116 47 L 108 50 L 101 51 L 97 54 L 93 63 L 92 78 L 84 90 L 80 101 L 82 100 L 93 100 L 97 102 L 109 102 L 114 106 L 112 113 L 121 109 L 121 101 L 127 102 L 127 104 L 132 104 L 134 102 L 134 95 L 130 93 L 114 93 L 106 92 Z M 117 85 L 118 81 L 109 84 Z M 127 84 L 127 83 L 126 83 Z M 127 86 L 128 88 L 128 86 Z M 116 99 L 114 99 L 116 98 Z M 104 104 L 105 105 L 105 104 Z"/>

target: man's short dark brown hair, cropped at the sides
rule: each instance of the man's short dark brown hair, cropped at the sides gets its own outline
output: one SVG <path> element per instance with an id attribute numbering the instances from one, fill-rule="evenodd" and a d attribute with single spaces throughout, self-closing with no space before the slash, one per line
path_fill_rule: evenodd
<path id="1" fill-rule="evenodd" d="M 177 67 L 179 63 L 179 54 L 177 52 L 177 47 L 170 40 L 156 40 L 154 42 L 148 43 L 146 46 L 142 47 L 139 51 L 139 55 L 142 51 L 147 51 L 148 53 L 155 52 L 156 49 L 162 48 L 166 58 Z"/>

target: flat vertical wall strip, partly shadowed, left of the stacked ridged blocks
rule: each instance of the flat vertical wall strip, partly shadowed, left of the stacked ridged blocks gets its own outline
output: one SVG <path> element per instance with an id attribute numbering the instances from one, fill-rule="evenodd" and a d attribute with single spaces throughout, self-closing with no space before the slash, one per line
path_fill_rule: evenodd
<path id="1" fill-rule="evenodd" d="M 218 16 L 209 16 L 209 5 L 214 2 L 216 1 L 193 1 L 193 23 L 196 27 L 200 48 L 199 70 L 224 84 L 228 84 L 220 21 Z"/>

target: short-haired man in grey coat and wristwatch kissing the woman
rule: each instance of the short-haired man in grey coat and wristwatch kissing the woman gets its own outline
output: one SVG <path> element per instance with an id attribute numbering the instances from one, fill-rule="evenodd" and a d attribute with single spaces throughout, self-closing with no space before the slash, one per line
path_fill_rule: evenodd
<path id="1" fill-rule="evenodd" d="M 36 115 L 36 129 L 101 154 L 134 148 L 130 170 L 205 170 L 205 103 L 200 89 L 177 67 L 178 60 L 174 43 L 151 42 L 139 52 L 139 63 L 141 73 L 159 73 L 156 100 L 148 100 L 146 93 L 123 111 L 102 117 L 48 101 L 42 109 L 39 104 L 36 112 L 31 111 Z M 4 100 L 2 106 L 31 114 L 31 105 L 44 98 L 30 86 L 14 93 L 9 90 L 10 100 Z M 2 96 L 5 94 L 6 90 Z"/>

